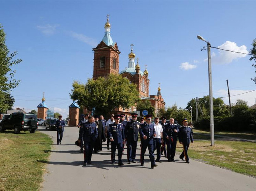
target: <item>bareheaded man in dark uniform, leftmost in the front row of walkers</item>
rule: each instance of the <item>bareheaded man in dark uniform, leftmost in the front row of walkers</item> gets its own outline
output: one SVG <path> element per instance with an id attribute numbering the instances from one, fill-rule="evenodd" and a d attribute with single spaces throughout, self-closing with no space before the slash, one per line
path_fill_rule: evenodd
<path id="1" fill-rule="evenodd" d="M 98 137 L 98 129 L 94 117 L 88 116 L 88 121 L 83 123 L 83 141 L 84 141 L 84 166 L 91 164 L 94 142 Z"/>

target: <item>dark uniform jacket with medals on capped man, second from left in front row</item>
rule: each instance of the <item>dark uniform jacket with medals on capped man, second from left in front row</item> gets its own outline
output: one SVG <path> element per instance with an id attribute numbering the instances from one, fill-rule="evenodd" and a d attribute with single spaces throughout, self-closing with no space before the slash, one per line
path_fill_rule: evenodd
<path id="1" fill-rule="evenodd" d="M 125 141 L 125 129 L 121 123 L 112 123 L 109 125 L 107 133 L 109 140 L 114 139 L 114 143 L 123 143 Z"/>

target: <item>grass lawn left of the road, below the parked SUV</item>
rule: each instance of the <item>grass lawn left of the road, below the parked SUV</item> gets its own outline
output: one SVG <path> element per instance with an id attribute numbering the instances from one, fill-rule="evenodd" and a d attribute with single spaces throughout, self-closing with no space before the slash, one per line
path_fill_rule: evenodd
<path id="1" fill-rule="evenodd" d="M 43 133 L 0 132 L 0 191 L 39 190 L 52 140 Z"/>

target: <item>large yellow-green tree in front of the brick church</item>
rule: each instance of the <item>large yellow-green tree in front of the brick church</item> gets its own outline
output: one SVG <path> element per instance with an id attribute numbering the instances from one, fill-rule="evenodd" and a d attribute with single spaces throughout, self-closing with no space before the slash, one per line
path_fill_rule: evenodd
<path id="1" fill-rule="evenodd" d="M 110 74 L 97 80 L 88 79 L 87 84 L 73 82 L 70 97 L 77 100 L 80 107 L 95 109 L 96 114 L 108 114 L 115 108 L 129 108 L 139 100 L 137 85 L 130 84 L 127 78 Z"/>

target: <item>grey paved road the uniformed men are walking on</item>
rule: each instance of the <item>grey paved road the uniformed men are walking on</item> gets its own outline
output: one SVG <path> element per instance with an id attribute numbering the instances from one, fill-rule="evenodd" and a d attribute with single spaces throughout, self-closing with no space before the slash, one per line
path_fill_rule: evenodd
<path id="1" fill-rule="evenodd" d="M 42 191 L 71 190 L 256 190 L 256 179 L 222 168 L 190 160 L 190 164 L 179 160 L 162 163 L 150 168 L 148 153 L 145 166 L 136 162 L 124 166 L 110 164 L 110 151 L 103 145 L 103 151 L 92 155 L 92 164 L 83 166 L 83 154 L 74 145 L 78 138 L 77 127 L 65 127 L 62 145 L 57 145 L 56 132 L 39 127 L 38 131 L 53 137 L 53 150 L 46 166 Z M 137 153 L 140 153 L 138 147 Z M 116 157 L 116 160 L 118 158 Z"/>

